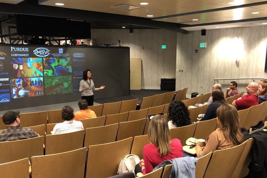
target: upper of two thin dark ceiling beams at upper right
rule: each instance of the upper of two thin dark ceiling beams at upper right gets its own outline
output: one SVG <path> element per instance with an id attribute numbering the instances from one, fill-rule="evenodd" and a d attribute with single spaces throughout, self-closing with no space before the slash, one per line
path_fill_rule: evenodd
<path id="1" fill-rule="evenodd" d="M 237 8 L 243 8 L 243 7 L 259 6 L 259 5 L 264 5 L 264 4 L 267 4 L 267 1 L 255 2 L 255 3 L 250 3 L 250 4 L 242 4 L 239 6 L 230 6 L 230 7 L 207 9 L 207 10 L 201 10 L 201 11 L 195 11 L 195 12 L 187 12 L 187 13 L 182 13 L 182 14 L 166 15 L 166 16 L 162 16 L 162 17 L 152 18 L 152 20 L 171 18 L 171 17 L 179 17 L 179 16 L 185 16 L 185 15 L 193 15 L 193 14 L 201 14 L 201 13 L 207 13 L 207 12 L 216 12 L 216 11 L 237 9 Z"/>

